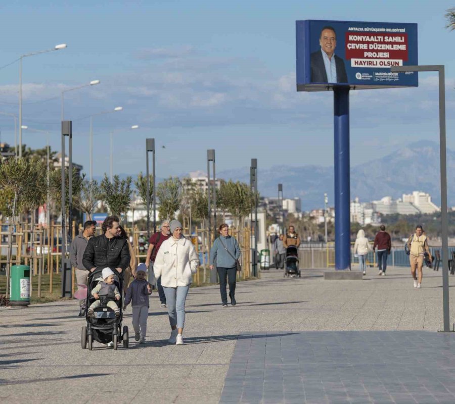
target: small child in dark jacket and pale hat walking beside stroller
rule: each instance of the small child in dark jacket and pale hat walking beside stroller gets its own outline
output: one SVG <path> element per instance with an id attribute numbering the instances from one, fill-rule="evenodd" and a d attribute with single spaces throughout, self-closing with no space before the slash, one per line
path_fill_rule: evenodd
<path id="1" fill-rule="evenodd" d="M 145 342 L 147 318 L 149 317 L 149 295 L 152 294 L 152 285 L 145 279 L 146 274 L 146 265 L 144 263 L 139 264 L 138 269 L 136 269 L 136 279 L 130 283 L 123 305 L 123 310 L 125 310 L 131 302 L 134 339 L 140 344 Z"/>

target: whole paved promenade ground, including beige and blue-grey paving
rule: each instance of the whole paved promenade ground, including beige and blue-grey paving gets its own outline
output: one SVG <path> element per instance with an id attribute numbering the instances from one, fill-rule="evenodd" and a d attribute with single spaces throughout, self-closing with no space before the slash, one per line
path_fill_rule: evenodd
<path id="1" fill-rule="evenodd" d="M 387 273 L 265 271 L 238 283 L 228 309 L 217 287 L 193 288 L 184 346 L 167 344 L 156 293 L 147 343 L 117 351 L 81 349 L 76 301 L 0 308 L 0 402 L 455 402 L 455 335 L 436 333 L 441 271 L 425 270 L 422 289 L 407 269 Z"/>

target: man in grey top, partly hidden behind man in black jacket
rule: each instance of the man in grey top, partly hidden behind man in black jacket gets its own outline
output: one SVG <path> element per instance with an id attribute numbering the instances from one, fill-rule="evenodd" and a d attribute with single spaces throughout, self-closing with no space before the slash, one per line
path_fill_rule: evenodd
<path id="1" fill-rule="evenodd" d="M 95 234 L 97 222 L 95 220 L 87 220 L 84 223 L 84 229 L 76 237 L 74 237 L 71 243 L 70 249 L 70 261 L 71 266 L 76 268 L 76 281 L 80 285 L 87 284 L 88 271 L 82 264 L 82 257 L 84 256 L 85 247 L 87 246 L 88 240 Z M 81 286 L 77 287 L 77 290 L 81 289 Z M 79 300 L 79 317 L 85 316 L 85 299 Z"/>

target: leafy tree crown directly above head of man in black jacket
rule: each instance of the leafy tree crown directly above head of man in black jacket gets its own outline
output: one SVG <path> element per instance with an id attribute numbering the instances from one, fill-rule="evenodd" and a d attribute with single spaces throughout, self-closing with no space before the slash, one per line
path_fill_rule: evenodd
<path id="1" fill-rule="evenodd" d="M 128 211 L 131 203 L 131 183 L 132 178 L 129 176 L 120 180 L 118 175 L 114 175 L 110 182 L 107 174 L 104 175 L 101 181 L 102 197 L 113 215 L 120 217 Z"/>

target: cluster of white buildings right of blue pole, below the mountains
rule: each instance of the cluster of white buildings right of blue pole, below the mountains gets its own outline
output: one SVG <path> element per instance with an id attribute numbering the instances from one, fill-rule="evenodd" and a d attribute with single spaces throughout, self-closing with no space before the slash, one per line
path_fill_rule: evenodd
<path id="1" fill-rule="evenodd" d="M 431 201 L 428 193 L 413 191 L 410 194 L 403 194 L 401 198 L 394 200 L 391 196 L 384 196 L 380 200 L 373 200 L 368 203 L 360 203 L 358 198 L 351 201 L 351 222 L 361 225 L 380 222 L 379 215 L 416 215 L 432 214 L 440 209 Z"/>

